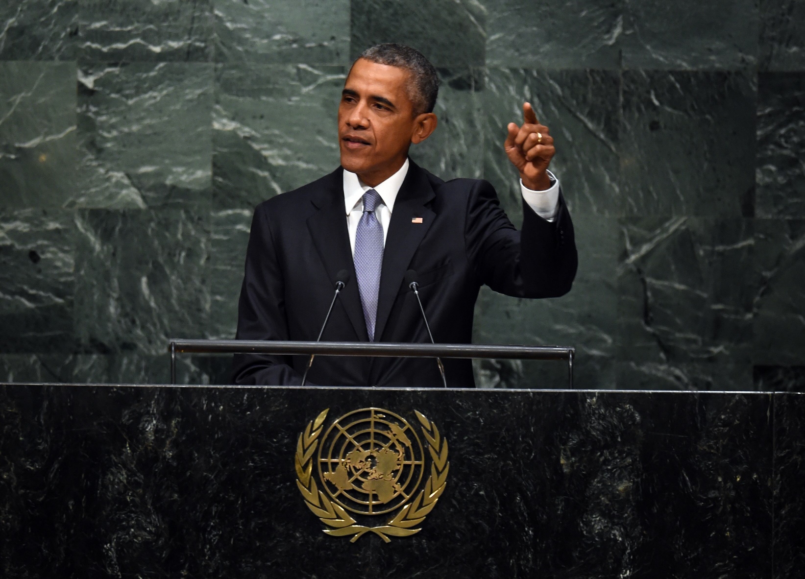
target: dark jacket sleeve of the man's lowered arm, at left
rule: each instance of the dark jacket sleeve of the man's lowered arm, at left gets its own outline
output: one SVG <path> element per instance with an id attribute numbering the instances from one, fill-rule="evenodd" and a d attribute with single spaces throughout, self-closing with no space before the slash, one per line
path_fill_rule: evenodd
<path id="1" fill-rule="evenodd" d="M 237 306 L 237 340 L 287 340 L 284 284 L 275 242 L 264 205 L 254 211 L 246 270 Z M 291 368 L 291 358 L 235 354 L 233 383 L 244 386 L 291 386 L 302 377 Z"/>

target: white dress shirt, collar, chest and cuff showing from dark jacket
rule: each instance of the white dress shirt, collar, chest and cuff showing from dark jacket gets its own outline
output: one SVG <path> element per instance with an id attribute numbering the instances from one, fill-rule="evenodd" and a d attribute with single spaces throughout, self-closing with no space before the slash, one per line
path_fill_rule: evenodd
<path id="1" fill-rule="evenodd" d="M 375 209 L 374 214 L 380 221 L 380 226 L 383 228 L 383 246 L 386 246 L 386 234 L 389 231 L 389 223 L 391 222 L 391 212 L 394 211 L 394 201 L 397 199 L 397 193 L 400 187 L 403 186 L 405 176 L 408 174 L 408 159 L 405 159 L 403 167 L 400 167 L 398 172 L 390 176 L 381 184 L 375 187 L 369 187 L 358 179 L 358 176 L 349 171 L 344 171 L 344 207 L 347 215 L 347 228 L 349 229 L 349 245 L 352 246 L 353 255 L 355 254 L 355 236 L 357 234 L 357 224 L 361 221 L 363 215 L 363 194 L 369 189 L 374 189 L 378 192 L 382 203 Z M 526 188 L 520 180 L 520 191 L 522 198 L 534 213 L 553 221 L 556 217 L 556 210 L 559 209 L 559 180 L 553 176 L 550 171 L 547 172 L 551 177 L 552 184 L 550 188 L 545 191 L 532 191 Z"/>

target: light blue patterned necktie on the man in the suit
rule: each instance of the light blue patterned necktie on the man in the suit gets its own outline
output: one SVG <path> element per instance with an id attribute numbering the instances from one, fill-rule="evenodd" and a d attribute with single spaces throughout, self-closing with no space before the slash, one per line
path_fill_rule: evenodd
<path id="1" fill-rule="evenodd" d="M 378 317 L 380 270 L 383 264 L 383 228 L 374 210 L 382 203 L 374 189 L 363 194 L 363 215 L 355 234 L 355 274 L 361 292 L 363 317 L 369 341 L 374 341 L 374 324 Z"/>

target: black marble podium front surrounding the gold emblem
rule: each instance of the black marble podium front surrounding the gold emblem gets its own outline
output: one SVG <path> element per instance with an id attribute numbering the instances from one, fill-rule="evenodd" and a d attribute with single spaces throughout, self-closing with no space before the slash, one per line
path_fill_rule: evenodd
<path id="1" fill-rule="evenodd" d="M 299 432 L 439 425 L 423 530 L 326 536 Z M 798 394 L 0 386 L 2 577 L 802 577 Z"/>

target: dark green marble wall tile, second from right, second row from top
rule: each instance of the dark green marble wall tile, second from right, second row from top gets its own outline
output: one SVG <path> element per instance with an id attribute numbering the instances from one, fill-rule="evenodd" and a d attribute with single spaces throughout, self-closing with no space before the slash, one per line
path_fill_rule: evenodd
<path id="1" fill-rule="evenodd" d="M 624 72 L 621 212 L 753 217 L 756 90 L 745 72 Z"/>

